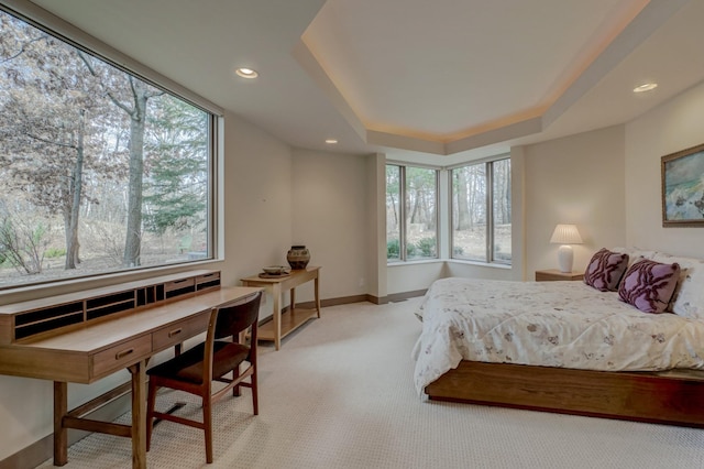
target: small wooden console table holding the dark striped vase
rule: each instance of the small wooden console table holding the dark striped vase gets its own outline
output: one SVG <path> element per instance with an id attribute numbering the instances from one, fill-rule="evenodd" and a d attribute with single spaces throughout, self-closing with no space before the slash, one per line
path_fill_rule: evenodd
<path id="1" fill-rule="evenodd" d="M 258 275 L 242 279 L 243 285 L 262 287 L 274 297 L 273 320 L 260 326 L 257 331 L 260 340 L 273 340 L 274 347 L 279 350 L 284 337 L 316 315 L 320 317 L 319 272 L 320 268 L 308 266 L 290 271 L 290 275 L 275 279 L 262 279 Z M 311 280 L 315 281 L 316 308 L 296 308 L 296 287 Z M 290 290 L 290 306 L 289 310 L 282 315 L 282 293 L 286 290 Z"/>

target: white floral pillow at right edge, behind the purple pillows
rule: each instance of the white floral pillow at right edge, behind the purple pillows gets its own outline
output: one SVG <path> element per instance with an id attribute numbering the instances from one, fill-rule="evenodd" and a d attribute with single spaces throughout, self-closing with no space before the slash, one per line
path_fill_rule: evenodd
<path id="1" fill-rule="evenodd" d="M 680 258 L 661 252 L 658 252 L 652 260 L 680 264 L 680 281 L 670 299 L 670 310 L 679 316 L 704 319 L 704 260 Z"/>

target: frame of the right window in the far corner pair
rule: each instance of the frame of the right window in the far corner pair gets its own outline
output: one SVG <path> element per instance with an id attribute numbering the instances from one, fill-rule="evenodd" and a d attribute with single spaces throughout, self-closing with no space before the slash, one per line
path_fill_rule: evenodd
<path id="1" fill-rule="evenodd" d="M 461 163 L 461 164 L 457 164 L 448 167 L 449 170 L 448 171 L 448 179 L 449 179 L 448 206 L 450 210 L 449 223 L 448 223 L 449 231 L 450 231 L 449 232 L 449 238 L 450 238 L 449 258 L 451 260 L 463 261 L 463 262 L 476 262 L 481 264 L 499 264 L 499 265 L 509 265 L 509 266 L 513 265 L 513 255 L 510 260 L 495 259 L 494 257 L 494 240 L 495 240 L 495 232 L 496 232 L 496 228 L 494 226 L 494 163 L 499 161 L 508 161 L 510 163 L 510 154 L 504 153 L 501 155 L 495 155 L 492 157 L 482 159 L 473 162 L 465 162 L 465 163 Z M 486 209 L 486 233 L 485 233 L 486 246 L 484 247 L 484 253 L 486 257 L 485 260 L 460 258 L 460 257 L 457 257 L 454 253 L 454 205 L 455 204 L 454 204 L 454 194 L 453 194 L 453 184 L 452 184 L 453 171 L 458 168 L 474 166 L 480 164 L 483 164 L 485 166 L 485 174 L 486 174 L 486 181 L 485 181 L 486 195 L 484 199 L 485 209 Z"/>

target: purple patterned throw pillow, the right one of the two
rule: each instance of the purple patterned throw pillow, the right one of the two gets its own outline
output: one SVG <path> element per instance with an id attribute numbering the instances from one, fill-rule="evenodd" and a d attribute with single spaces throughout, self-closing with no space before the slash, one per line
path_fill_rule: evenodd
<path id="1" fill-rule="evenodd" d="M 644 259 L 628 269 L 618 288 L 622 301 L 645 313 L 662 313 L 680 279 L 680 264 Z"/>

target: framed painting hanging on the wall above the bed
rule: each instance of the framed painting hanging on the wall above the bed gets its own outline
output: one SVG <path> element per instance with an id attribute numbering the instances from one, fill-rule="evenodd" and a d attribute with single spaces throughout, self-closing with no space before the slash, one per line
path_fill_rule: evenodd
<path id="1" fill-rule="evenodd" d="M 660 159 L 662 226 L 704 227 L 704 144 Z"/>

